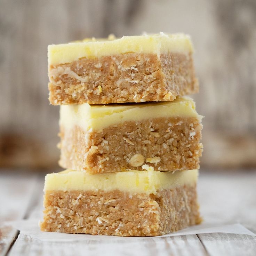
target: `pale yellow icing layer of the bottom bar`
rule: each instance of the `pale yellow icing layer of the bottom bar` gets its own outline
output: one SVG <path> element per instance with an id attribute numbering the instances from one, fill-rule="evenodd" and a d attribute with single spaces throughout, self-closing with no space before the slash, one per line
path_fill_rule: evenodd
<path id="1" fill-rule="evenodd" d="M 157 193 L 185 184 L 195 184 L 198 170 L 160 172 L 152 167 L 143 166 L 145 171 L 123 171 L 90 175 L 83 171 L 65 170 L 60 173 L 47 174 L 45 191 L 112 191 L 120 190 L 133 193 Z"/>

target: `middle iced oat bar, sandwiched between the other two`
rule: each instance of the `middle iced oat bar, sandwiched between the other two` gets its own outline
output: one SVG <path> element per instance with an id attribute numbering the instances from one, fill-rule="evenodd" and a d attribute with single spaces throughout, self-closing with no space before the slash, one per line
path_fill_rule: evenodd
<path id="1" fill-rule="evenodd" d="M 61 106 L 59 165 L 88 173 L 199 168 L 201 116 L 189 97 L 172 102 Z"/>

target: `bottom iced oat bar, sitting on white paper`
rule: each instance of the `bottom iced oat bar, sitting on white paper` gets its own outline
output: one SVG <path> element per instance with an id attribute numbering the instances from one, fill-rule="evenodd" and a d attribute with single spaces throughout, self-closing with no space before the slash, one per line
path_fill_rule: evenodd
<path id="1" fill-rule="evenodd" d="M 41 230 L 155 236 L 199 224 L 198 170 L 48 174 Z"/>

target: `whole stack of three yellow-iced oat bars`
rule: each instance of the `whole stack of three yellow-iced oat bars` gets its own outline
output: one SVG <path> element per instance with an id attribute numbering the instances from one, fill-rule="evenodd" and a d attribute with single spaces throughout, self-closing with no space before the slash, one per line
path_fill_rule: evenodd
<path id="1" fill-rule="evenodd" d="M 45 179 L 41 230 L 154 236 L 201 221 L 201 116 L 184 34 L 48 47 L 50 103 L 61 105 L 59 165 Z"/>

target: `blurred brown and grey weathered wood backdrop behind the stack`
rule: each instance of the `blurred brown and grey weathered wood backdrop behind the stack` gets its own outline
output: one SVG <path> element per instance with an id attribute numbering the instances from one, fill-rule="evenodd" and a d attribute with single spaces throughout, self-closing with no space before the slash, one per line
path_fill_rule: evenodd
<path id="1" fill-rule="evenodd" d="M 0 167 L 57 166 L 47 45 L 143 31 L 192 36 L 201 166 L 256 167 L 255 0 L 0 0 Z"/>

